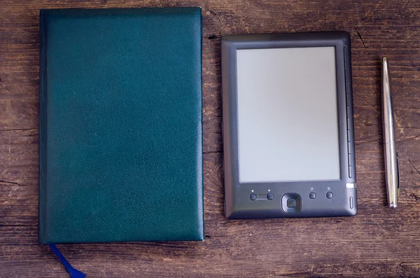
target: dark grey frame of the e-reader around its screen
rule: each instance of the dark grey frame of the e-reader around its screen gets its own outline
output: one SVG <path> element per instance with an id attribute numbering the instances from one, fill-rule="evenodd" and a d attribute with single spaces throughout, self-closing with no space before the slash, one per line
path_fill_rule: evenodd
<path id="1" fill-rule="evenodd" d="M 240 49 L 327 46 L 335 47 L 341 179 L 337 181 L 239 183 L 236 51 Z M 221 56 L 225 216 L 227 218 L 279 218 L 355 215 L 357 212 L 356 162 L 353 139 L 349 33 L 309 32 L 223 36 Z M 310 136 L 310 134 L 308 135 Z M 251 192 L 251 190 L 254 191 Z M 311 192 L 316 193 L 316 198 L 309 198 Z M 330 199 L 326 197 L 328 192 L 333 193 L 333 197 Z M 268 200 L 268 193 L 272 194 L 269 196 L 273 197 L 272 200 Z M 301 208 L 297 209 L 299 211 L 288 213 L 283 211 L 281 200 L 288 193 L 300 195 Z M 255 194 L 253 197 L 256 197 L 256 200 L 251 200 L 251 194 Z"/>

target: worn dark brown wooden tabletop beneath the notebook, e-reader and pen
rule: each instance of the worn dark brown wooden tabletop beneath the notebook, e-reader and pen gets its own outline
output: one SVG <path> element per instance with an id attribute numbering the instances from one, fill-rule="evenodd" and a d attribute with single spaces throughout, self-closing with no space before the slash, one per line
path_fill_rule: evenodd
<path id="1" fill-rule="evenodd" d="M 24 3 L 25 2 L 25 3 Z M 69 277 L 38 244 L 38 10 L 201 6 L 204 242 L 62 244 L 88 277 L 420 277 L 419 1 L 20 1 L 0 4 L 0 277 Z M 351 34 L 358 214 L 228 221 L 223 216 L 220 38 Z M 400 207 L 386 205 L 380 60 L 391 64 Z"/>

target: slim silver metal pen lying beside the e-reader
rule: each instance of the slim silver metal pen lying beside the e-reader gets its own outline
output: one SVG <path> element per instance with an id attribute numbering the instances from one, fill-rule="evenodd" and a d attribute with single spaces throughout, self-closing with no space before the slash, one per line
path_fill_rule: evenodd
<path id="1" fill-rule="evenodd" d="M 395 151 L 391 80 L 389 78 L 389 67 L 386 57 L 382 60 L 382 125 L 384 130 L 384 158 L 388 205 L 391 209 L 395 209 L 397 207 L 398 196 L 400 195 L 400 177 L 398 155 Z"/>

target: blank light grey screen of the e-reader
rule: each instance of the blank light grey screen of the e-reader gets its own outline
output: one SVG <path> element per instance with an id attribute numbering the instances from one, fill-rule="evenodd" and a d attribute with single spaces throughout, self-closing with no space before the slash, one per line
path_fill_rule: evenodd
<path id="1" fill-rule="evenodd" d="M 339 180 L 335 48 L 237 50 L 239 182 Z"/>

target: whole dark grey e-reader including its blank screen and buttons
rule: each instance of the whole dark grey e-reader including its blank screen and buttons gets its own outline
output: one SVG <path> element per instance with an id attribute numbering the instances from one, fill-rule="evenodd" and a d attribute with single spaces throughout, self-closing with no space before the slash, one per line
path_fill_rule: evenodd
<path id="1" fill-rule="evenodd" d="M 225 216 L 357 211 L 347 32 L 223 36 Z"/>

